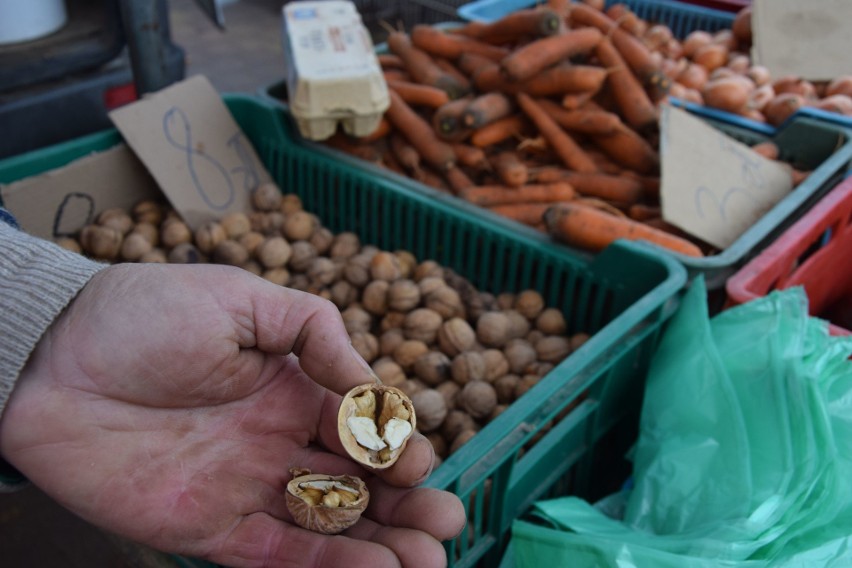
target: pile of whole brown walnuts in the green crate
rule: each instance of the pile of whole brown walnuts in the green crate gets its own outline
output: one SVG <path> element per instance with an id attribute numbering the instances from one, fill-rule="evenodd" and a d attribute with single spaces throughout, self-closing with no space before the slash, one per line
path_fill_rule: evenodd
<path id="1" fill-rule="evenodd" d="M 274 184 L 254 211 L 195 231 L 145 201 L 103 211 L 61 246 L 106 262 L 212 262 L 307 291 L 340 310 L 352 344 L 382 382 L 405 392 L 440 459 L 524 395 L 581 345 L 535 290 L 493 295 L 432 260 L 333 234 Z"/>

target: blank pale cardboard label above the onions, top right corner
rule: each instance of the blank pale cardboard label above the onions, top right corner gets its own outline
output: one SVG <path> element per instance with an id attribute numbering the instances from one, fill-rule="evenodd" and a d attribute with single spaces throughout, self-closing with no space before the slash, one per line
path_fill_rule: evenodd
<path id="1" fill-rule="evenodd" d="M 852 74 L 850 22 L 849 0 L 753 0 L 752 58 L 773 77 Z"/>

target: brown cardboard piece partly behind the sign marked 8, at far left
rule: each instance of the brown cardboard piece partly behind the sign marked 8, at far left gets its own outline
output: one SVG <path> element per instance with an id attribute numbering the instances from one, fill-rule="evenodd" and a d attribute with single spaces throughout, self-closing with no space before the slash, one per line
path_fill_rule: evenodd
<path id="1" fill-rule="evenodd" d="M 129 210 L 141 200 L 163 198 L 125 144 L 0 186 L 0 195 L 21 228 L 44 239 L 75 235 L 105 209 Z"/>

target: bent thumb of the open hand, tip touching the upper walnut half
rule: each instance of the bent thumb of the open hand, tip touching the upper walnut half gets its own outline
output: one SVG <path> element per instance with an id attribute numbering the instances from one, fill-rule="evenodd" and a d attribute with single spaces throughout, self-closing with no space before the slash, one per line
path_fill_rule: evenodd
<path id="1" fill-rule="evenodd" d="M 295 354 L 311 379 L 341 395 L 358 385 L 378 382 L 352 347 L 334 304 L 308 292 L 263 284 L 251 298 L 258 349 Z"/>

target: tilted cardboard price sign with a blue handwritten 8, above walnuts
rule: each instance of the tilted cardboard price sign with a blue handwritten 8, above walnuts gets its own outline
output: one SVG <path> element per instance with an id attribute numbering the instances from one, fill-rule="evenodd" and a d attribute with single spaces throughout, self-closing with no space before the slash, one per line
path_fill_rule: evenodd
<path id="1" fill-rule="evenodd" d="M 110 118 L 193 229 L 249 212 L 251 192 L 271 179 L 203 76 L 114 110 Z"/>

